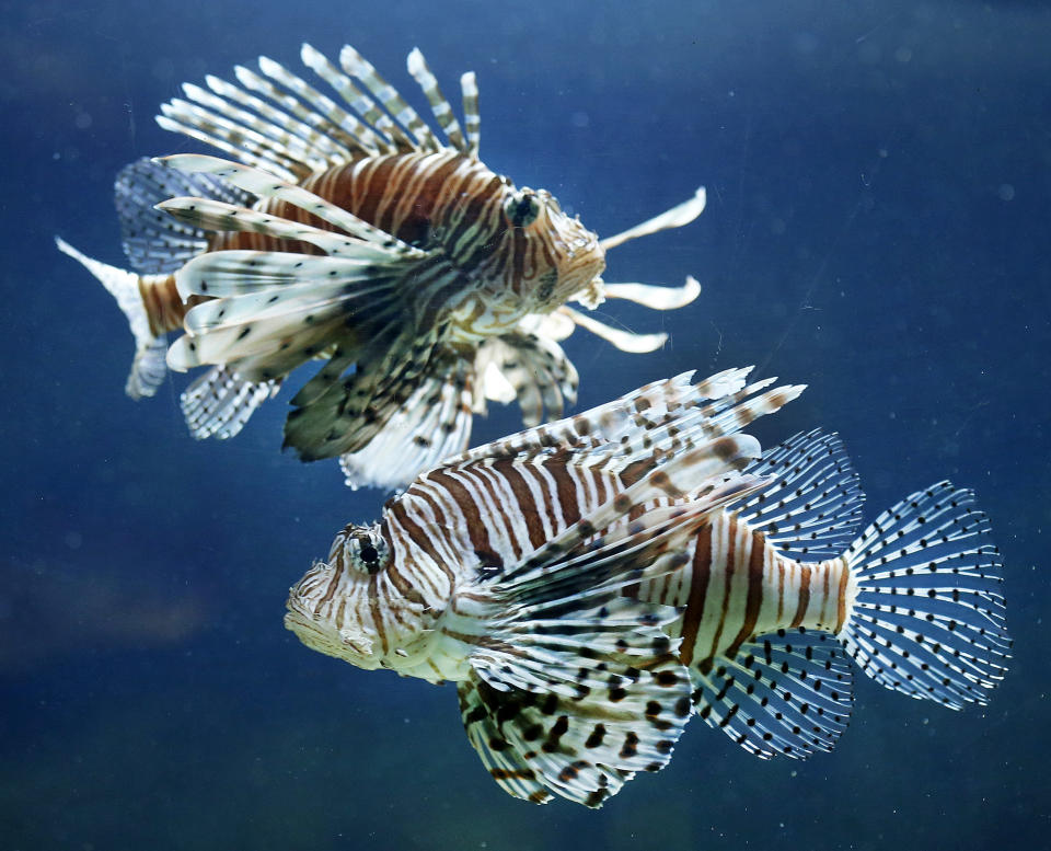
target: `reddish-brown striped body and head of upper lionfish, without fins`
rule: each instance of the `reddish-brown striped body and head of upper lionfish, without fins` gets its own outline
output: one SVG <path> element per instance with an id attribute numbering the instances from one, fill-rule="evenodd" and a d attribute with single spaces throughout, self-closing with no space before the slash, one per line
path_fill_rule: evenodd
<path id="1" fill-rule="evenodd" d="M 518 191 L 507 177 L 454 150 L 360 157 L 303 181 L 302 187 L 409 245 L 428 251 L 413 269 L 414 314 L 426 326 L 450 312 L 451 343 L 476 344 L 510 331 L 528 313 L 547 313 L 601 275 L 598 238 L 562 214 L 547 193 Z M 506 214 L 531 194 L 540 212 L 526 227 Z M 333 226 L 282 200 L 259 205 L 287 221 Z M 322 252 L 254 231 L 222 232 L 209 251 Z"/>

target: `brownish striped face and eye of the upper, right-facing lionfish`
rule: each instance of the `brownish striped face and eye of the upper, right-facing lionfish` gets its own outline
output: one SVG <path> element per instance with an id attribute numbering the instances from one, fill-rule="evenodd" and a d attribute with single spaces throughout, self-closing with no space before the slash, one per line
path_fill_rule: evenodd
<path id="1" fill-rule="evenodd" d="M 521 252 L 522 297 L 530 313 L 546 313 L 588 287 L 605 269 L 605 251 L 597 234 L 567 216 L 544 189 L 508 186 L 504 216 Z M 519 242 L 518 235 L 524 238 Z"/>

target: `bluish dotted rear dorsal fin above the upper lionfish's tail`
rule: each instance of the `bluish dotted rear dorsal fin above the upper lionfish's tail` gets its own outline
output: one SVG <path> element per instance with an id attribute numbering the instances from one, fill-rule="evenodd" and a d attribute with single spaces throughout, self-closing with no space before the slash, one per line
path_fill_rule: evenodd
<path id="1" fill-rule="evenodd" d="M 155 207 L 183 195 L 250 207 L 255 198 L 207 174 L 186 174 L 143 157 L 118 173 L 114 200 L 120 220 L 124 253 L 137 272 L 177 272 L 208 248 L 208 232 L 164 216 Z"/>

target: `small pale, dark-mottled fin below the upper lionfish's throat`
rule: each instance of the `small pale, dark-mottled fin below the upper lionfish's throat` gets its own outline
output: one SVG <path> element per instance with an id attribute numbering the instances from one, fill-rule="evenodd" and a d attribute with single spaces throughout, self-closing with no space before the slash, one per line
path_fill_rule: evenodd
<path id="1" fill-rule="evenodd" d="M 564 400 L 577 398 L 577 370 L 562 347 L 538 334 L 515 331 L 485 341 L 475 358 L 485 395 L 499 402 L 517 399 L 528 427 L 563 415 Z"/>

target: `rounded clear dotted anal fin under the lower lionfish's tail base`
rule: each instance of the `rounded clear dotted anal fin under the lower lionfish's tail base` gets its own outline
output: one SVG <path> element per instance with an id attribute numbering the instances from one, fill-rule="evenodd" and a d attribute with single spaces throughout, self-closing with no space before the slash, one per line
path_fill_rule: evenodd
<path id="1" fill-rule="evenodd" d="M 832 750 L 850 723 L 853 670 L 828 634 L 778 630 L 690 676 L 697 714 L 763 759 Z"/>

